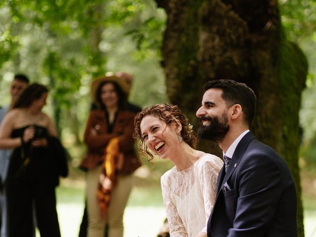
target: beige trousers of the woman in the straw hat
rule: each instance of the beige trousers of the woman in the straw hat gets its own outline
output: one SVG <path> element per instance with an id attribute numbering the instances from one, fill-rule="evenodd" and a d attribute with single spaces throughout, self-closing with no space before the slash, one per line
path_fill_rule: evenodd
<path id="1" fill-rule="evenodd" d="M 132 189 L 132 175 L 118 176 L 118 183 L 112 191 L 111 201 L 106 218 L 100 216 L 97 203 L 97 188 L 102 165 L 90 169 L 86 174 L 87 182 L 87 213 L 88 230 L 87 237 L 104 237 L 107 224 L 108 237 L 123 237 L 123 214 L 129 194 Z"/>

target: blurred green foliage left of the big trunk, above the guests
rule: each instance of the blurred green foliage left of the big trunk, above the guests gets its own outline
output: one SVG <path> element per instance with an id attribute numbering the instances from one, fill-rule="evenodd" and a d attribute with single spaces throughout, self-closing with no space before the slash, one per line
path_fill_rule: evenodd
<path id="1" fill-rule="evenodd" d="M 79 151 L 72 154 L 81 156 L 92 79 L 126 71 L 135 78 L 131 101 L 166 101 L 159 66 L 164 22 L 153 0 L 1 1 L 1 105 L 9 101 L 5 88 L 15 73 L 48 85 L 45 110 L 66 146 Z"/>

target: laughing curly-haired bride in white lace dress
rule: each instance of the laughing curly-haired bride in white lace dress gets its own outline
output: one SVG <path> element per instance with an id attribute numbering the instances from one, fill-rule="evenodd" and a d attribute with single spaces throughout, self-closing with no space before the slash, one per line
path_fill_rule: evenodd
<path id="1" fill-rule="evenodd" d="M 135 117 L 140 152 L 171 159 L 175 166 L 161 177 L 171 237 L 206 237 L 216 183 L 223 161 L 195 150 L 197 138 L 178 106 L 158 104 Z"/>

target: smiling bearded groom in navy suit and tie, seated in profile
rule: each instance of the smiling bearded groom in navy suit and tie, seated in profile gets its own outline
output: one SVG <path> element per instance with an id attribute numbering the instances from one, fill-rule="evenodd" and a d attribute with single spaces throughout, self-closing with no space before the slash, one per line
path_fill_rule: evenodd
<path id="1" fill-rule="evenodd" d="M 297 237 L 296 191 L 283 159 L 249 131 L 256 96 L 245 84 L 204 86 L 197 135 L 223 150 L 225 164 L 207 224 L 208 237 Z"/>

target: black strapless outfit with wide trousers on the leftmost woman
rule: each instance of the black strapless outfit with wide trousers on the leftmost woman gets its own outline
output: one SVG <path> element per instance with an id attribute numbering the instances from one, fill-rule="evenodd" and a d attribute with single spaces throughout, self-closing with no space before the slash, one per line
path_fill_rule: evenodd
<path id="1" fill-rule="evenodd" d="M 12 131 L 21 137 L 26 127 Z M 47 137 L 44 127 L 36 126 L 36 136 Z M 55 185 L 47 178 L 47 147 L 29 144 L 13 150 L 5 185 L 8 237 L 34 237 L 33 212 L 41 237 L 60 237 L 56 211 Z"/>

